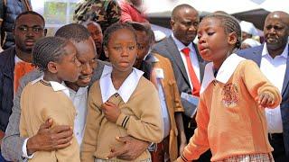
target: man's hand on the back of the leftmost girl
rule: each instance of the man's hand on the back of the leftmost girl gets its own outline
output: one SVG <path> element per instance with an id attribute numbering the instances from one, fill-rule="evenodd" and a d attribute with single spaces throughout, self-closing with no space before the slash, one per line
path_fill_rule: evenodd
<path id="1" fill-rule="evenodd" d="M 27 141 L 27 153 L 36 151 L 51 151 L 70 146 L 73 129 L 68 125 L 59 125 L 51 129 L 53 121 L 48 119 L 40 126 L 37 134 Z"/>

